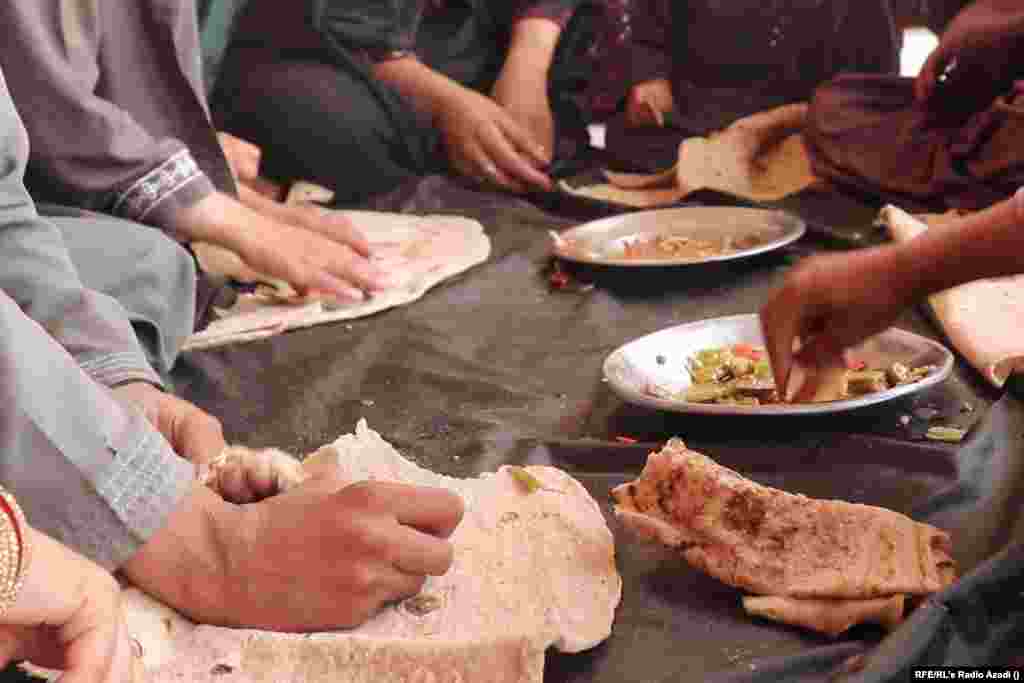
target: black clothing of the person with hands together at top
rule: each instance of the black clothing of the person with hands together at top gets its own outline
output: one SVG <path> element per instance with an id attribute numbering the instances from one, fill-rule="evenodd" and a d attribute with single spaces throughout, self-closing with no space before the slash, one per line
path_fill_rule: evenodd
<path id="1" fill-rule="evenodd" d="M 342 203 L 389 190 L 415 176 L 450 171 L 439 132 L 373 76 L 368 54 L 415 44 L 427 66 L 487 92 L 504 62 L 513 18 L 508 8 L 514 3 L 489 3 L 505 7 L 497 14 L 488 3 L 451 2 L 443 11 L 416 17 L 415 41 L 402 31 L 380 33 L 408 25 L 409 17 L 395 13 L 394 3 L 380 3 L 380 15 L 361 23 L 346 20 L 352 4 L 314 9 L 303 27 L 292 19 L 273 31 L 258 9 L 247 10 L 212 102 L 219 127 L 262 147 L 262 173 L 283 181 L 311 180 L 332 188 Z M 583 114 L 571 95 L 586 85 L 586 48 L 601 15 L 593 3 L 567 4 L 580 6 L 549 72 L 559 138 L 556 167 L 587 139 Z M 390 38 L 374 39 L 380 35 Z"/>

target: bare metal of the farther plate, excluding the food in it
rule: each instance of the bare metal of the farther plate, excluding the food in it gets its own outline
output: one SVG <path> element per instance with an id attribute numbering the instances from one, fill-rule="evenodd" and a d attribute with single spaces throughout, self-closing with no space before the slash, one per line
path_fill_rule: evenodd
<path id="1" fill-rule="evenodd" d="M 681 207 L 610 216 L 584 223 L 553 238 L 559 258 L 615 266 L 673 266 L 730 261 L 763 254 L 803 237 L 804 221 L 784 211 L 740 207 Z M 683 237 L 709 242 L 757 238 L 757 246 L 701 258 L 624 257 L 625 245 L 637 239 Z"/>

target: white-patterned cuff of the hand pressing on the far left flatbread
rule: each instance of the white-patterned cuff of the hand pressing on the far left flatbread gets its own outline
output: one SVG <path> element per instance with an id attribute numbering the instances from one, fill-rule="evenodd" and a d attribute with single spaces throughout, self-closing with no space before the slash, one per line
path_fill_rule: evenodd
<path id="1" fill-rule="evenodd" d="M 129 220 L 164 227 L 175 213 L 214 191 L 213 182 L 187 150 L 181 150 L 119 194 L 111 212 Z M 181 241 L 178 236 L 172 238 Z"/>

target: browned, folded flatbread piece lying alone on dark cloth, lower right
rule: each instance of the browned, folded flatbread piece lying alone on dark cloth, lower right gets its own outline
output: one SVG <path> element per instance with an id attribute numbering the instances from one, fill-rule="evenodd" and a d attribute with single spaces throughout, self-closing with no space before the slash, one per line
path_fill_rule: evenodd
<path id="1" fill-rule="evenodd" d="M 746 479 L 671 439 L 611 492 L 639 537 L 752 594 L 752 614 L 831 636 L 892 627 L 908 597 L 955 579 L 949 536 L 893 510 L 794 495 Z"/>

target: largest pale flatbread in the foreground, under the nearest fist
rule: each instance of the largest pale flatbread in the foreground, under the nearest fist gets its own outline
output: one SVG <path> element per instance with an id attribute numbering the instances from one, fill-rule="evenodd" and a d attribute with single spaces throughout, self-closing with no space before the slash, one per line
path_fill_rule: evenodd
<path id="1" fill-rule="evenodd" d="M 416 603 L 432 609 L 407 600 L 357 629 L 283 634 L 196 625 L 127 589 L 126 622 L 151 683 L 542 683 L 548 647 L 578 652 L 610 634 L 622 597 L 612 535 L 597 502 L 565 472 L 526 467 L 543 484 L 532 493 L 507 467 L 442 476 L 402 458 L 362 420 L 303 465 L 462 497 L 454 564 L 428 579 Z"/>

